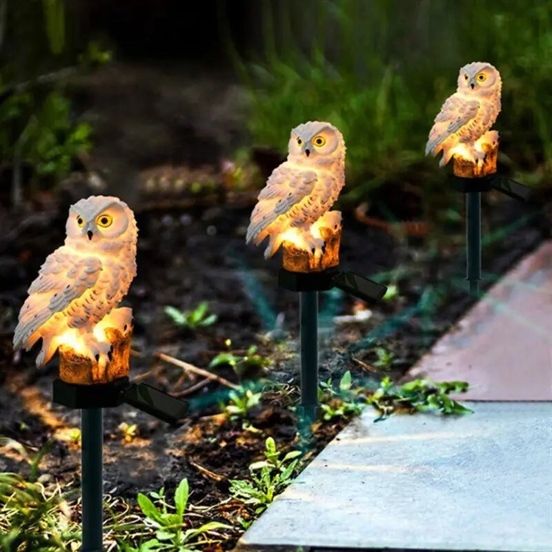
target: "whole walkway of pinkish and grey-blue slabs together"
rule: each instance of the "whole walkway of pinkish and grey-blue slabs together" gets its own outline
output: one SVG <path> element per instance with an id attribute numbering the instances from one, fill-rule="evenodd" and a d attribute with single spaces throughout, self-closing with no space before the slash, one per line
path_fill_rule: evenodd
<path id="1" fill-rule="evenodd" d="M 374 423 L 366 411 L 239 549 L 552 552 L 551 339 L 546 242 L 408 374 L 470 382 L 475 413 Z"/>

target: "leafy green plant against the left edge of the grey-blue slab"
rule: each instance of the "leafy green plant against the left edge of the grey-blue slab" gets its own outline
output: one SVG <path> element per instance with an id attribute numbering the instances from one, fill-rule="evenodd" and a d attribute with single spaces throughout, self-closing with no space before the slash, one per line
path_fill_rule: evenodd
<path id="1" fill-rule="evenodd" d="M 250 464 L 249 480 L 230 480 L 230 494 L 244 504 L 255 507 L 257 514 L 266 509 L 291 482 L 301 452 L 290 451 L 280 459 L 282 453 L 276 450 L 273 438 L 268 437 L 264 455 L 266 460 Z"/>

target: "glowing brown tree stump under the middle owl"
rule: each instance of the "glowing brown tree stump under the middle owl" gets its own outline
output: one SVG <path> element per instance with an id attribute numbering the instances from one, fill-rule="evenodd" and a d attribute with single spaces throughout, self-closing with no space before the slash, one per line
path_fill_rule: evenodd
<path id="1" fill-rule="evenodd" d="M 293 242 L 284 242 L 284 268 L 290 272 L 309 273 L 322 272 L 328 268 L 339 266 L 339 246 L 341 245 L 342 226 L 337 228 L 320 228 L 320 235 L 326 242 L 322 255 L 314 255 L 297 247 Z"/>

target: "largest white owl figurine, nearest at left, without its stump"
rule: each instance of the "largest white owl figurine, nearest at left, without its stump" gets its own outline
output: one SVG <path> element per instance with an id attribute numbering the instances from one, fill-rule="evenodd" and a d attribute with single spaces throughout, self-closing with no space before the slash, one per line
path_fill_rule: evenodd
<path id="1" fill-rule="evenodd" d="M 71 206 L 65 244 L 41 266 L 19 313 L 14 349 L 42 338 L 37 366 L 62 344 L 105 366 L 110 355 L 103 330 L 126 335 L 130 308 L 115 308 L 136 275 L 138 229 L 132 210 L 117 197 L 101 195 Z"/>

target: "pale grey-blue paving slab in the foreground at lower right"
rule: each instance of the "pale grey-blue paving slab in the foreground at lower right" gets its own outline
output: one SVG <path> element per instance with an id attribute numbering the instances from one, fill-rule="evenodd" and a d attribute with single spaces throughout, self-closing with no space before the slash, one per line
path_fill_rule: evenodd
<path id="1" fill-rule="evenodd" d="M 349 424 L 238 549 L 552 551 L 552 403 Z"/>

